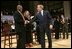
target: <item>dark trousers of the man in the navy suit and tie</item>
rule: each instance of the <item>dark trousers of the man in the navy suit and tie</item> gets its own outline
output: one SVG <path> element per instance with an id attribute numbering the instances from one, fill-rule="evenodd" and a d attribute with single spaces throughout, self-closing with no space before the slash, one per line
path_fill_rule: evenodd
<path id="1" fill-rule="evenodd" d="M 44 26 L 40 26 L 40 43 L 41 43 L 41 47 L 45 48 L 45 32 L 47 34 L 48 37 L 48 48 L 52 47 L 52 40 L 51 40 L 51 30 L 48 29 L 48 27 L 44 27 Z"/>

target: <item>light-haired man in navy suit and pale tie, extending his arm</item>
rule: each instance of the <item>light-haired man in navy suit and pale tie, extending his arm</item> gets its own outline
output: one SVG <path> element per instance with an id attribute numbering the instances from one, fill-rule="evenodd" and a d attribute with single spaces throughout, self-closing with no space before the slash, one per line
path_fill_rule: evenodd
<path id="1" fill-rule="evenodd" d="M 37 25 L 39 25 L 39 36 L 40 36 L 40 44 L 42 48 L 45 48 L 45 32 L 48 36 L 49 48 L 52 47 L 51 40 L 51 29 L 52 29 L 52 18 L 50 16 L 49 11 L 43 10 L 43 5 L 37 5 L 37 14 L 32 21 L 36 21 Z"/>

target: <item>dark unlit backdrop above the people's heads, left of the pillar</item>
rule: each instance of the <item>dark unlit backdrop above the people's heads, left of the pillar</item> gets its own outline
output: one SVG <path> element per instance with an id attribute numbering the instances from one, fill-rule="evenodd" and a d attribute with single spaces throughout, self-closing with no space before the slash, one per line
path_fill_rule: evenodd
<path id="1" fill-rule="evenodd" d="M 1 1 L 1 11 L 14 12 L 18 4 L 23 6 L 23 11 L 29 10 L 32 15 L 36 12 L 36 4 L 43 4 L 45 7 L 44 9 L 49 10 L 51 14 L 54 10 L 58 12 L 59 9 L 63 8 L 63 1 Z"/>

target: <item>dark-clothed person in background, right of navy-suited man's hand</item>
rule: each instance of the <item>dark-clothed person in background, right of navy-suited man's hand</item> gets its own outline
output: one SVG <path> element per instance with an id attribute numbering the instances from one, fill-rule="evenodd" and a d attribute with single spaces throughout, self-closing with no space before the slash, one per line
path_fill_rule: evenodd
<path id="1" fill-rule="evenodd" d="M 55 28 L 55 39 L 59 39 L 60 22 L 58 16 L 55 17 L 54 28 Z"/>

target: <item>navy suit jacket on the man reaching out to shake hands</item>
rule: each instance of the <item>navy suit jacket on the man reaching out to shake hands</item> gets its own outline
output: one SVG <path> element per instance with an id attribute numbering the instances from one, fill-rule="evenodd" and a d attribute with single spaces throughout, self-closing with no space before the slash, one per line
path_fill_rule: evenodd
<path id="1" fill-rule="evenodd" d="M 49 11 L 43 11 L 43 16 L 40 13 L 37 13 L 33 18 L 33 21 L 36 21 L 39 26 L 48 26 L 52 23 L 52 17 Z"/>

